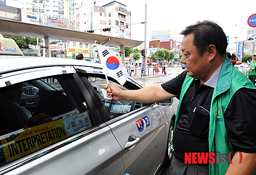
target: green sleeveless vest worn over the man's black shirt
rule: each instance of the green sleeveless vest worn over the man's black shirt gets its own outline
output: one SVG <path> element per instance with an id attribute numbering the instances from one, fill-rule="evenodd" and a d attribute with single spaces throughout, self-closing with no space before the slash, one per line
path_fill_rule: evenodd
<path id="1" fill-rule="evenodd" d="M 182 99 L 193 80 L 194 79 L 192 77 L 187 75 L 183 82 L 180 103 L 178 105 L 177 116 L 175 118 L 175 127 L 181 116 L 180 106 Z M 227 136 L 223 114 L 225 113 L 233 94 L 243 87 L 256 89 L 253 83 L 242 72 L 236 69 L 226 57 L 211 99 L 208 140 L 209 153 L 215 153 L 215 163 L 209 164 L 209 174 L 225 174 L 229 166 L 229 154 L 231 152 L 232 159 L 235 153 L 235 150 L 232 148 L 232 144 Z M 216 153 L 226 155 L 225 164 L 216 163 Z"/>

